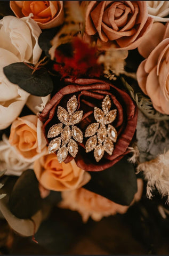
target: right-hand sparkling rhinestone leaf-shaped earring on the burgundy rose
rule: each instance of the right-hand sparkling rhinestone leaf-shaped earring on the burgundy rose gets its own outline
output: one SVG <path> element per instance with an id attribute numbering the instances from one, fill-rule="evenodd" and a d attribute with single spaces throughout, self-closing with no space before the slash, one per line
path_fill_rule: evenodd
<path id="1" fill-rule="evenodd" d="M 114 142 L 117 140 L 117 131 L 110 125 L 117 115 L 117 110 L 111 108 L 109 95 L 103 99 L 102 110 L 94 107 L 94 118 L 96 123 L 87 126 L 85 137 L 90 137 L 86 141 L 86 153 L 94 150 L 94 158 L 99 162 L 106 151 L 110 156 L 114 150 Z"/>

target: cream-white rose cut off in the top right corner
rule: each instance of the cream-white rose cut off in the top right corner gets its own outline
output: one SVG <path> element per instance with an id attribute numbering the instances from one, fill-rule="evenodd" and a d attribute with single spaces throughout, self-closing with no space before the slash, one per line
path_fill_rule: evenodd
<path id="1" fill-rule="evenodd" d="M 169 2 L 168 1 L 147 1 L 148 14 L 154 18 L 154 22 L 168 22 L 169 18 L 166 17 L 169 14 Z"/>

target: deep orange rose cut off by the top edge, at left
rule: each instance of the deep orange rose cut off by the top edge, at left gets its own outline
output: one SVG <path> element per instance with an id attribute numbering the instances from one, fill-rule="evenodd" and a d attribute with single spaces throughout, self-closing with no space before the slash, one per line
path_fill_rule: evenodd
<path id="1" fill-rule="evenodd" d="M 18 18 L 33 13 L 42 29 L 60 26 L 64 20 L 63 1 L 10 1 L 10 7 Z"/>

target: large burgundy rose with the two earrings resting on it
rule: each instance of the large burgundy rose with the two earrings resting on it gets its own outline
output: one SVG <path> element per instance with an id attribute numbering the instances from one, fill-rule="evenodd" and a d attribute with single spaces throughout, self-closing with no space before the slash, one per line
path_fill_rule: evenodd
<path id="1" fill-rule="evenodd" d="M 77 110 L 83 110 L 82 121 L 77 125 L 85 134 L 86 127 L 95 123 L 93 110 L 94 107 L 101 108 L 102 101 L 109 95 L 111 99 L 111 109 L 117 109 L 117 116 L 113 126 L 117 131 L 117 141 L 114 144 L 112 155 L 104 153 L 102 159 L 97 163 L 93 156 L 93 151 L 86 153 L 85 143 L 87 138 L 84 137 L 83 143 L 78 143 L 78 153 L 75 157 L 76 164 L 85 171 L 102 171 L 117 163 L 125 154 L 128 153 L 128 146 L 133 138 L 138 109 L 135 107 L 130 96 L 118 87 L 99 79 L 65 79 L 65 87 L 53 96 L 51 101 L 46 105 L 42 114 L 39 116 L 44 122 L 44 134 L 47 143 L 51 139 L 47 138 L 50 127 L 60 123 L 57 117 L 58 106 L 66 109 L 68 100 L 76 95 L 78 100 Z M 72 159 L 70 155 L 65 162 Z"/>

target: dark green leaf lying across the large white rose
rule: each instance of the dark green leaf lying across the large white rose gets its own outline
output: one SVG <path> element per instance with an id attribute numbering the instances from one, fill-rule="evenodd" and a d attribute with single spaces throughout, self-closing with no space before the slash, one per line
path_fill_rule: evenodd
<path id="1" fill-rule="evenodd" d="M 53 91 L 52 79 L 45 68 L 36 70 L 33 73 L 33 69 L 29 68 L 25 63 L 16 62 L 4 67 L 3 70 L 11 83 L 19 85 L 30 94 L 44 97 Z"/>

